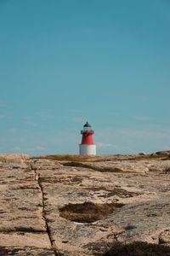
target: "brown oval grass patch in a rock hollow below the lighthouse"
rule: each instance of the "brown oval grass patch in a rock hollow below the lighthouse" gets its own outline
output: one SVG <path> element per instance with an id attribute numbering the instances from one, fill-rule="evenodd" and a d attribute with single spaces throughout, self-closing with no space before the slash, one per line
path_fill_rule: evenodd
<path id="1" fill-rule="evenodd" d="M 122 207 L 120 203 L 94 204 L 87 201 L 82 204 L 68 204 L 59 207 L 60 217 L 80 223 L 92 223 L 105 218 L 115 211 L 117 207 Z"/>

